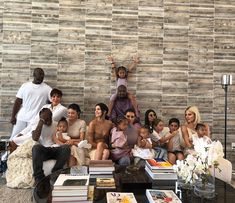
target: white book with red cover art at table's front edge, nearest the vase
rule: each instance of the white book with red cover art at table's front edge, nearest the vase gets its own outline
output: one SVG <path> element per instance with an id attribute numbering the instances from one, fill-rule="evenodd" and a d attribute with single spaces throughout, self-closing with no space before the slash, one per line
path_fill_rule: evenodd
<path id="1" fill-rule="evenodd" d="M 149 203 L 164 203 L 164 202 L 174 202 L 182 203 L 181 200 L 176 196 L 172 190 L 146 190 L 146 196 Z"/>

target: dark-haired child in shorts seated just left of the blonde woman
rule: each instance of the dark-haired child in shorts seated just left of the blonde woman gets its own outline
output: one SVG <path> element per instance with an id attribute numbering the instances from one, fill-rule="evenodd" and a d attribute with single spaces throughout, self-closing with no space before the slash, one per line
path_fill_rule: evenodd
<path id="1" fill-rule="evenodd" d="M 167 143 L 168 161 L 175 164 L 176 160 L 183 160 L 184 154 L 180 147 L 180 134 L 179 134 L 180 121 L 177 118 L 169 120 L 169 129 L 171 134 L 175 134 Z"/>

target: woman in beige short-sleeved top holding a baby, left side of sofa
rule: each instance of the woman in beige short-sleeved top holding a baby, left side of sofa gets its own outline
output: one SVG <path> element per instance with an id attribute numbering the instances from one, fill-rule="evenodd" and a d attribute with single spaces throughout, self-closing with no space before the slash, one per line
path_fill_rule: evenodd
<path id="1" fill-rule="evenodd" d="M 85 138 L 86 122 L 80 119 L 81 109 L 78 104 L 70 104 L 68 106 L 68 139 L 64 144 L 71 146 L 71 157 L 69 166 L 84 165 L 85 151 L 83 148 L 78 148 L 78 143 Z M 54 136 L 56 144 L 62 144 L 58 137 Z"/>

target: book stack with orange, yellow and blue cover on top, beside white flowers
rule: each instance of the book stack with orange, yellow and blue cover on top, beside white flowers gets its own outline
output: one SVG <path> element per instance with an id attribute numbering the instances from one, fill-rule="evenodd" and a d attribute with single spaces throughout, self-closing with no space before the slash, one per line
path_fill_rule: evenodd
<path id="1" fill-rule="evenodd" d="M 154 180 L 177 180 L 172 164 L 164 159 L 147 159 L 145 170 Z"/>

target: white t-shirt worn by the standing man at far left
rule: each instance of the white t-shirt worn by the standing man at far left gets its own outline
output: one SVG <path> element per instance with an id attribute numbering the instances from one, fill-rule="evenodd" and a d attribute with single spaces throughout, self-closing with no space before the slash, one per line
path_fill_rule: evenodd
<path id="1" fill-rule="evenodd" d="M 22 99 L 22 106 L 17 114 L 17 120 L 29 122 L 43 105 L 50 100 L 51 87 L 46 83 L 34 84 L 26 82 L 21 85 L 16 97 Z"/>

